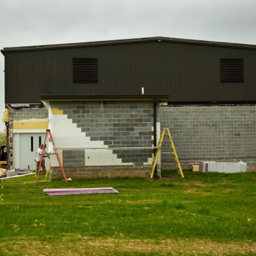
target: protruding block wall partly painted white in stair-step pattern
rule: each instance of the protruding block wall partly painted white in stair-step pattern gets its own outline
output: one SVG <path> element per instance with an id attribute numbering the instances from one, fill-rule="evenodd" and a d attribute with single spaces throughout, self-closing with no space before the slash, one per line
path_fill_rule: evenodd
<path id="1" fill-rule="evenodd" d="M 49 103 L 55 121 L 53 139 L 67 177 L 148 176 L 154 153 L 154 102 Z M 62 177 L 58 166 L 53 155 L 51 179 Z"/>

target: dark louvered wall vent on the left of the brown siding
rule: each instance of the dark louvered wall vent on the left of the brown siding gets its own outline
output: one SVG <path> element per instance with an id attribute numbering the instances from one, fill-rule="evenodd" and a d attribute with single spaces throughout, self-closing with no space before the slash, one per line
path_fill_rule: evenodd
<path id="1" fill-rule="evenodd" d="M 98 83 L 98 59 L 73 59 L 73 82 Z"/>

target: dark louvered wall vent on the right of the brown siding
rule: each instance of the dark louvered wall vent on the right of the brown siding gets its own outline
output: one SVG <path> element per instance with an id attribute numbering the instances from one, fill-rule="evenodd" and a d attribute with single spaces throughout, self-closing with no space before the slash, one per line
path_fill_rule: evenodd
<path id="1" fill-rule="evenodd" d="M 243 59 L 220 59 L 220 82 L 243 82 Z"/>

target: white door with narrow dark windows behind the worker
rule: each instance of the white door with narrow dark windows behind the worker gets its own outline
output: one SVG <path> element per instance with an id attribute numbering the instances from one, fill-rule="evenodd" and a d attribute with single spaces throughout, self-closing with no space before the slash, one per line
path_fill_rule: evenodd
<path id="1" fill-rule="evenodd" d="M 45 133 L 20 133 L 20 168 L 28 169 L 29 166 L 30 170 L 36 170 L 36 152 L 39 145 L 44 143 L 45 136 Z M 49 160 L 46 158 L 46 169 L 48 163 Z"/>

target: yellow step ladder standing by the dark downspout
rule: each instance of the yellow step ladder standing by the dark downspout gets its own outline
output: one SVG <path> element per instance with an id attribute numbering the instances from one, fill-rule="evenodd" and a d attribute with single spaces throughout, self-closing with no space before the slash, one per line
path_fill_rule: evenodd
<path id="1" fill-rule="evenodd" d="M 176 163 L 177 172 L 181 176 L 181 179 L 185 180 L 185 177 L 183 175 L 181 166 L 179 164 L 179 158 L 177 157 L 176 149 L 175 149 L 175 146 L 174 146 L 174 141 L 172 141 L 172 136 L 171 136 L 171 133 L 170 133 L 169 129 L 162 129 L 162 133 L 160 135 L 160 139 L 158 141 L 157 149 L 156 149 L 156 152 L 154 153 L 154 158 L 153 158 L 151 168 L 150 168 L 150 171 L 149 171 L 149 177 L 150 177 L 150 179 L 152 179 L 152 177 L 154 175 L 154 169 L 156 168 L 156 163 L 157 163 L 158 156 L 159 156 L 159 153 L 160 153 L 160 150 L 161 150 L 162 142 L 164 140 L 164 133 L 167 133 L 167 135 L 168 135 L 170 146 L 172 148 L 172 154 L 174 155 L 174 161 Z"/>

